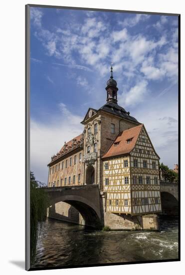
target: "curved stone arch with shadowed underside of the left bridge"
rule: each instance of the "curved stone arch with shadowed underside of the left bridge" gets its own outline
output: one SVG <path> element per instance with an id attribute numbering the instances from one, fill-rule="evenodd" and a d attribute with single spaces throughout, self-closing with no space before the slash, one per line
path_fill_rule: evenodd
<path id="1" fill-rule="evenodd" d="M 101 211 L 92 201 L 79 195 L 59 195 L 50 200 L 50 206 L 58 202 L 66 202 L 77 209 L 82 215 L 85 225 L 99 228 L 101 227 Z M 49 208 L 48 208 L 49 209 Z M 49 213 L 48 213 L 49 215 Z"/>

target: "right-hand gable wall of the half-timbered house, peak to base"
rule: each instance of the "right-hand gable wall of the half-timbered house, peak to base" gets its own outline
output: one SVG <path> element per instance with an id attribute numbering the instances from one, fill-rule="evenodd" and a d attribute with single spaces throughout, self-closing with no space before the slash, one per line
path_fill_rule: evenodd
<path id="1" fill-rule="evenodd" d="M 161 211 L 159 159 L 143 125 L 131 151 L 133 215 Z"/>

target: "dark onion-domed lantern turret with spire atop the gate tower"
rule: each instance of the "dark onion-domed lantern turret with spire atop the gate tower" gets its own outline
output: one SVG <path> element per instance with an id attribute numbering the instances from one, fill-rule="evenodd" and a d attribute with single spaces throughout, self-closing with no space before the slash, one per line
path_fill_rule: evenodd
<path id="1" fill-rule="evenodd" d="M 107 90 L 107 102 L 117 103 L 118 87 L 117 87 L 116 80 L 113 79 L 112 66 L 111 66 L 111 77 L 107 81 L 107 87 L 105 89 Z"/>

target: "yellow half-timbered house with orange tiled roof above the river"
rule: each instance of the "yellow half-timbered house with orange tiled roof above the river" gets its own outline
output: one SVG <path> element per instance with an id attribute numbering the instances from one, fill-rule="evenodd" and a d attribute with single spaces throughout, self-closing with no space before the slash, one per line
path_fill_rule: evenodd
<path id="1" fill-rule="evenodd" d="M 159 156 L 143 124 L 120 132 L 102 159 L 107 211 L 161 211 Z"/>

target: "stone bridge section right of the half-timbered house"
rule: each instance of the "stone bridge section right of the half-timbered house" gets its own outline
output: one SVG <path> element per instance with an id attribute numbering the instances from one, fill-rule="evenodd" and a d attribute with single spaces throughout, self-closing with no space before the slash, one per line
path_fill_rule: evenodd
<path id="1" fill-rule="evenodd" d="M 163 213 L 178 215 L 179 184 L 161 181 L 160 187 Z"/>

